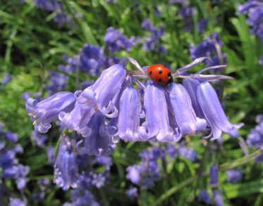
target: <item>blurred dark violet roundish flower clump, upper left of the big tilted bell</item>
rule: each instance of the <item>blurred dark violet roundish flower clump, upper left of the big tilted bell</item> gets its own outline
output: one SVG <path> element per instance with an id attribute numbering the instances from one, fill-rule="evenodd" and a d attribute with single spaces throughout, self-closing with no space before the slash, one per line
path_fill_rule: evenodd
<path id="1" fill-rule="evenodd" d="M 91 75 L 98 75 L 105 60 L 102 47 L 85 44 L 80 52 L 80 69 Z"/>

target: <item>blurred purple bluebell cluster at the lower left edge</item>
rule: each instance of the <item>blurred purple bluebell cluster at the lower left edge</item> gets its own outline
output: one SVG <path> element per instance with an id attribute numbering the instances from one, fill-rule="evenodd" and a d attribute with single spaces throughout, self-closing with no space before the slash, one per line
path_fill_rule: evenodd
<path id="1" fill-rule="evenodd" d="M 30 167 L 24 166 L 18 162 L 16 155 L 23 153 L 23 148 L 18 141 L 18 135 L 11 131 L 4 131 L 4 124 L 0 122 L 0 205 L 4 204 L 6 198 L 11 197 L 11 194 L 6 189 L 6 181 L 4 179 L 16 180 L 18 191 L 23 192 L 29 179 L 27 174 Z M 16 143 L 16 144 L 15 144 Z M 6 191 L 2 196 L 1 191 Z M 21 201 L 18 198 L 11 198 L 12 202 Z"/>

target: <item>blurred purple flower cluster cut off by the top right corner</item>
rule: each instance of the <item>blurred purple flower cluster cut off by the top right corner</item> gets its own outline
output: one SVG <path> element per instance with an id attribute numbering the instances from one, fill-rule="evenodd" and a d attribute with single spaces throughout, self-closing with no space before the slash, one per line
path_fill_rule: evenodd
<path id="1" fill-rule="evenodd" d="M 252 27 L 252 34 L 263 41 L 263 1 L 247 1 L 238 6 L 238 13 L 247 14 L 247 24 Z"/>

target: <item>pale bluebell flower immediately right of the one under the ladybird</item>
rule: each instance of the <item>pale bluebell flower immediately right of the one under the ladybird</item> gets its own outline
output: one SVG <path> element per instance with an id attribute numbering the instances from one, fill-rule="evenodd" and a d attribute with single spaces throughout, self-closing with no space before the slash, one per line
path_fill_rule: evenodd
<path id="1" fill-rule="evenodd" d="M 171 84 L 169 86 L 169 97 L 178 127 L 178 141 L 187 134 L 193 135 L 195 131 L 207 127 L 207 122 L 204 119 L 196 117 L 190 96 L 182 84 Z"/>

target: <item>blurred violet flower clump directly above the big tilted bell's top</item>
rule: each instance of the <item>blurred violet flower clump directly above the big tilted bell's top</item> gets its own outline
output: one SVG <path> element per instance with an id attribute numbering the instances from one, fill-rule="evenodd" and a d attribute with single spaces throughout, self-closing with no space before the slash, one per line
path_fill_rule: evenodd
<path id="1" fill-rule="evenodd" d="M 107 29 L 104 41 L 111 53 L 122 50 L 130 51 L 130 49 L 135 46 L 135 37 L 128 39 L 123 36 L 120 30 L 114 30 L 113 27 Z"/>

